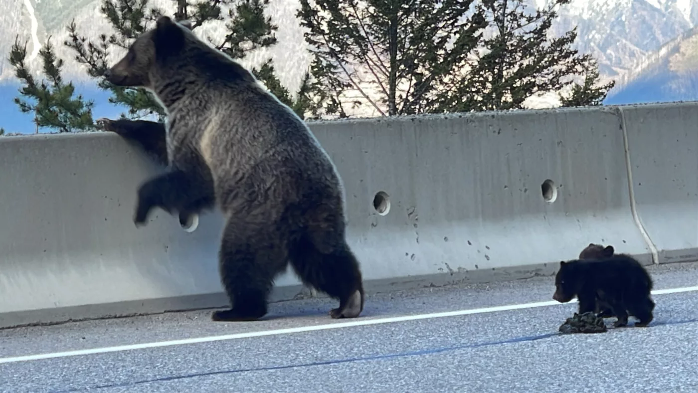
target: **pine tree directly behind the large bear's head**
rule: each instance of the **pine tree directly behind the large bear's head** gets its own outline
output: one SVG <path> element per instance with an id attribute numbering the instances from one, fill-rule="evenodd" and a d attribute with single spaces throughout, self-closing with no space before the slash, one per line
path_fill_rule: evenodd
<path id="1" fill-rule="evenodd" d="M 228 20 L 228 34 L 222 40 L 209 40 L 218 50 L 233 59 L 243 59 L 260 47 L 276 45 L 274 32 L 277 27 L 272 24 L 270 17 L 264 15 L 269 0 L 173 1 L 177 3 L 174 19 L 190 20 L 194 30 L 211 20 Z M 65 45 L 75 51 L 78 62 L 87 66 L 88 75 L 98 80 L 98 87 L 112 92 L 110 103 L 128 107 L 128 115 L 124 114 L 124 117 L 139 119 L 155 114 L 158 121 L 163 121 L 165 112 L 148 91 L 117 87 L 103 78 L 105 71 L 111 66 L 107 64 L 110 49 L 114 46 L 128 48 L 135 38 L 152 28 L 157 18 L 163 15 L 162 10 L 149 8 L 148 3 L 148 0 L 102 0 L 101 11 L 114 28 L 114 34 L 103 34 L 96 42 L 92 42 L 77 33 L 73 21 L 68 26 L 70 38 Z M 223 16 L 221 6 L 231 6 L 227 17 Z M 308 109 L 308 98 L 304 96 L 306 85 L 301 87 L 298 99 L 292 98 L 274 74 L 271 59 L 260 70 L 253 68 L 251 71 L 279 100 L 294 108 L 299 116 L 304 116 Z"/>

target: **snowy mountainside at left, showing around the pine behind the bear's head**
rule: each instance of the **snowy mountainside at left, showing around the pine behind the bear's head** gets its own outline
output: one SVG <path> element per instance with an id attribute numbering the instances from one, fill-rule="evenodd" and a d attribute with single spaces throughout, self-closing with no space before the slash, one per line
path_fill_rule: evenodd
<path id="1" fill-rule="evenodd" d="M 150 0 L 149 3 L 172 15 L 177 1 Z M 3 53 L 0 81 L 15 79 L 8 57 L 15 36 L 18 35 L 21 42 L 29 40 L 27 53 L 32 70 L 40 69 L 40 58 L 36 54 L 40 45 L 50 36 L 57 56 L 65 61 L 64 77 L 87 82 L 87 74 L 74 60 L 75 53 L 63 43 L 68 38 L 66 27 L 73 19 L 80 35 L 95 42 L 100 34 L 110 34 L 111 27 L 102 15 L 100 6 L 101 0 L 0 0 L 0 8 L 5 10 L 0 13 L 0 52 Z M 310 57 L 304 50 L 303 31 L 295 17 L 297 7 L 297 0 L 272 0 L 267 12 L 279 25 L 279 30 L 276 31 L 279 45 L 260 50 L 242 61 L 245 66 L 258 65 L 271 54 L 281 82 L 291 89 L 297 89 L 302 77 L 300 71 L 304 71 L 310 62 Z M 223 9 L 223 13 L 227 11 Z M 197 29 L 200 36 L 212 38 L 222 37 L 224 31 L 224 22 L 217 21 L 207 22 Z M 121 51 L 112 53 L 112 61 L 123 55 L 124 52 Z"/>

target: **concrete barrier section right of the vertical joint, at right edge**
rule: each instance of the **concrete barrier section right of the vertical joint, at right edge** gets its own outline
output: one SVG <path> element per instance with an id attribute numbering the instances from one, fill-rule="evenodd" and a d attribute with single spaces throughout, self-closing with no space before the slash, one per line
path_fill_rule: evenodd
<path id="1" fill-rule="evenodd" d="M 637 214 L 658 262 L 698 260 L 698 103 L 618 107 Z"/>

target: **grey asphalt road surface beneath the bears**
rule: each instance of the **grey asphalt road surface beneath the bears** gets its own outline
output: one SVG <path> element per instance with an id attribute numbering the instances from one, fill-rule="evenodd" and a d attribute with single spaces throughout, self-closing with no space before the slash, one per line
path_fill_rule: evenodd
<path id="1" fill-rule="evenodd" d="M 658 290 L 698 285 L 696 264 L 650 271 Z M 373 295 L 355 320 L 332 320 L 334 302 L 307 299 L 272 304 L 258 322 L 196 311 L 0 330 L 0 392 L 698 392 L 698 291 L 654 295 L 649 327 L 631 319 L 614 329 L 610 319 L 608 332 L 562 335 L 576 303 L 526 305 L 551 302 L 553 282 Z M 414 318 L 461 310 L 470 311 Z M 356 325 L 367 320 L 379 323 Z M 350 326 L 327 328 L 342 322 Z M 61 355 L 239 333 L 247 336 Z M 44 353 L 57 355 L 16 358 Z"/>

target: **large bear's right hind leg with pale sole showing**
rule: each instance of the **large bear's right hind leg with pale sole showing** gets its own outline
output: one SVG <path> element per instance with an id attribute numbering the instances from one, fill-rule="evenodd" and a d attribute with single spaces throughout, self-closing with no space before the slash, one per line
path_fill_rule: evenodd
<path id="1" fill-rule="evenodd" d="M 290 260 L 303 283 L 339 299 L 339 307 L 329 311 L 332 318 L 356 318 L 364 310 L 359 262 L 345 241 L 321 251 L 302 239 L 294 246 Z"/>

